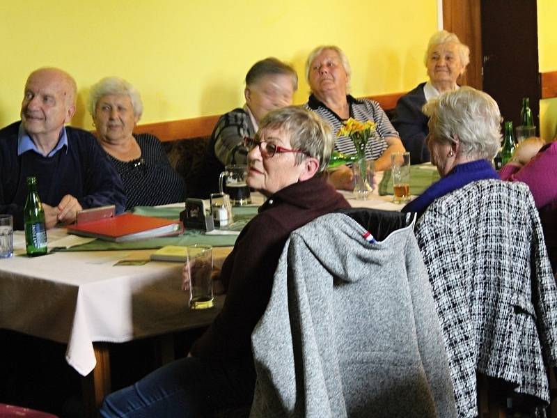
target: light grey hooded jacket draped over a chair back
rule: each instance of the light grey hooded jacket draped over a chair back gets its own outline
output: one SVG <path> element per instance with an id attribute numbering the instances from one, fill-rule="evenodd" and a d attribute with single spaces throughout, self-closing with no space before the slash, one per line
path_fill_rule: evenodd
<path id="1" fill-rule="evenodd" d="M 252 417 L 455 417 L 411 219 L 345 210 L 290 235 L 251 336 Z"/>

